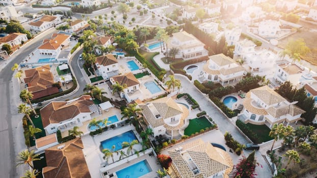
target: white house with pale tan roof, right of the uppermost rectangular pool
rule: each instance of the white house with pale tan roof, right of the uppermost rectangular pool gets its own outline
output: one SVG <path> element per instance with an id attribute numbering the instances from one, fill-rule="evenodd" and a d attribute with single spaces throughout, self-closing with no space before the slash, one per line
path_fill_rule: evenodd
<path id="1" fill-rule="evenodd" d="M 169 48 L 175 47 L 180 50 L 176 57 L 180 55 L 184 60 L 190 60 L 207 55 L 204 49 L 205 44 L 192 34 L 182 31 L 173 33 L 172 36 L 168 45 Z"/>

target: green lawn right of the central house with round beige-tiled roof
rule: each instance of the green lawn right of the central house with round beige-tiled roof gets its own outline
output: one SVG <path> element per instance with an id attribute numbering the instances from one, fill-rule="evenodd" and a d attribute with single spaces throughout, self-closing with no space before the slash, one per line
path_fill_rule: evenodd
<path id="1" fill-rule="evenodd" d="M 192 135 L 196 132 L 200 132 L 201 129 L 205 129 L 206 127 L 211 127 L 212 124 L 207 120 L 205 116 L 194 118 L 189 120 L 188 127 L 184 130 L 184 135 Z"/>

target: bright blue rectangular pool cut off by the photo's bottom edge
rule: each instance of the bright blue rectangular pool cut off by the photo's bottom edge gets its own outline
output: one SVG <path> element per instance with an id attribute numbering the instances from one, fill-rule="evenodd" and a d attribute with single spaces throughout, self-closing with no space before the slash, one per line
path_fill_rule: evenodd
<path id="1" fill-rule="evenodd" d="M 116 172 L 118 178 L 134 178 L 141 177 L 152 169 L 146 160 L 140 161 Z"/>

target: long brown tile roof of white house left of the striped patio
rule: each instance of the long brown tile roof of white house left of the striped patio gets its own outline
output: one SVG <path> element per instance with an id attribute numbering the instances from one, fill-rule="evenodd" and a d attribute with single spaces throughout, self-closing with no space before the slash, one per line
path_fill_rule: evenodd
<path id="1" fill-rule="evenodd" d="M 94 105 L 94 102 L 88 95 L 72 102 L 52 101 L 40 110 L 43 127 L 69 120 L 80 113 L 91 113 L 89 109 L 91 105 Z"/>

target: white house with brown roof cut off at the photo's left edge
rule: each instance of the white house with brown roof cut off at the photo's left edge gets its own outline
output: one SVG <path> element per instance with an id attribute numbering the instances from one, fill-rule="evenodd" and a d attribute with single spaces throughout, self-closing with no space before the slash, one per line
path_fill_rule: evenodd
<path id="1" fill-rule="evenodd" d="M 26 41 L 28 41 L 27 34 L 12 33 L 5 37 L 0 37 L 0 49 L 4 44 L 9 44 L 11 48 L 15 48 Z"/>

